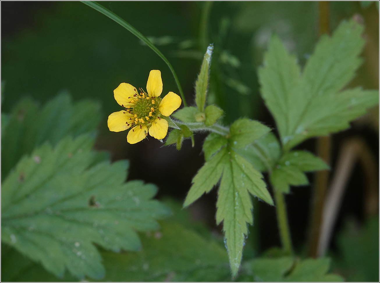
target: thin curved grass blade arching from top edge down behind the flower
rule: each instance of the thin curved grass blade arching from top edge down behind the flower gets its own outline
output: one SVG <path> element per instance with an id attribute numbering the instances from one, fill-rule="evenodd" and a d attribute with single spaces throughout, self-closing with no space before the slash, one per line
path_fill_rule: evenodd
<path id="1" fill-rule="evenodd" d="M 181 87 L 181 85 L 179 83 L 177 74 L 174 71 L 173 66 L 171 66 L 171 64 L 168 61 L 168 59 L 166 59 L 166 57 L 160 52 L 160 50 L 157 49 L 157 47 L 155 47 L 152 44 L 152 42 L 149 41 L 149 39 L 147 39 L 144 35 L 142 35 L 142 33 L 140 33 L 138 30 L 136 30 L 136 28 L 134 28 L 130 24 L 128 24 L 125 20 L 123 20 L 122 18 L 120 18 L 116 14 L 112 13 L 111 11 L 109 11 L 109 9 L 107 9 L 107 8 L 103 7 L 102 5 L 96 3 L 95 1 L 81 1 L 81 2 L 84 3 L 84 4 L 86 4 L 86 5 L 88 5 L 88 6 L 90 6 L 93 9 L 97 10 L 98 12 L 100 12 L 103 15 L 109 17 L 110 19 L 114 20 L 115 22 L 117 22 L 122 27 L 124 27 L 127 30 L 129 30 L 133 35 L 135 35 L 137 38 L 139 38 L 141 41 L 143 41 L 147 46 L 149 46 L 150 49 L 152 49 L 154 52 L 156 52 L 157 55 L 160 56 L 161 59 L 164 60 L 164 62 L 168 65 L 171 73 L 173 74 L 174 80 L 176 81 L 179 93 L 180 93 L 180 95 L 182 97 L 182 102 L 184 103 L 185 107 L 187 106 L 186 101 L 185 101 L 184 92 L 182 91 L 182 87 Z"/>

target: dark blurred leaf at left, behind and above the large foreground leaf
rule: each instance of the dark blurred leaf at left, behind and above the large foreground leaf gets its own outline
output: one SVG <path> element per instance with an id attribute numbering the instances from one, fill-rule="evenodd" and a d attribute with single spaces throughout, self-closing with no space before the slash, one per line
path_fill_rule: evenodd
<path id="1" fill-rule="evenodd" d="M 97 128 L 100 105 L 89 100 L 71 102 L 61 92 L 41 109 L 29 98 L 12 110 L 5 133 L 2 134 L 2 180 L 24 154 L 49 141 L 53 146 L 66 135 L 77 137 Z"/>

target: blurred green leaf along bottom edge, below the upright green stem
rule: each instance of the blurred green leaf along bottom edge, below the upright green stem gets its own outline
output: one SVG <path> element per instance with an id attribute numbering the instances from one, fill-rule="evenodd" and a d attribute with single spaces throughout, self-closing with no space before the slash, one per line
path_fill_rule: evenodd
<path id="1" fill-rule="evenodd" d="M 327 274 L 330 266 L 328 258 L 294 259 L 258 258 L 244 264 L 244 270 L 253 280 L 260 282 L 341 282 L 336 274 Z"/>

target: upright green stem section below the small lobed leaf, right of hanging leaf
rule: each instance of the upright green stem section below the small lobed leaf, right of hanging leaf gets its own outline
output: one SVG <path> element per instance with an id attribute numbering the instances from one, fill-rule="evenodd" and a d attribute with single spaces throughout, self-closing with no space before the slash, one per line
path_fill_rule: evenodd
<path id="1" fill-rule="evenodd" d="M 285 198 L 282 192 L 277 190 L 275 187 L 273 187 L 273 190 L 282 248 L 287 255 L 293 255 Z"/>

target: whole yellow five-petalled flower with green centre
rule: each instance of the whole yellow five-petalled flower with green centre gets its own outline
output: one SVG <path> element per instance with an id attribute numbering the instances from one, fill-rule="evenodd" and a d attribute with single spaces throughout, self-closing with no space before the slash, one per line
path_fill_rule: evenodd
<path id="1" fill-rule="evenodd" d="M 125 108 L 108 116 L 108 128 L 112 132 L 121 132 L 130 127 L 128 132 L 128 143 L 142 141 L 149 132 L 154 138 L 161 140 L 168 133 L 168 121 L 160 116 L 169 116 L 181 105 L 181 98 L 169 92 L 163 99 L 161 72 L 152 70 L 149 72 L 146 90 L 139 91 L 129 83 L 120 83 L 114 90 L 116 102 Z"/>

